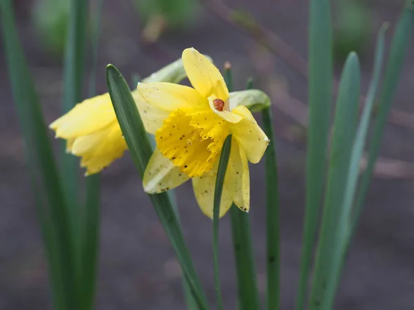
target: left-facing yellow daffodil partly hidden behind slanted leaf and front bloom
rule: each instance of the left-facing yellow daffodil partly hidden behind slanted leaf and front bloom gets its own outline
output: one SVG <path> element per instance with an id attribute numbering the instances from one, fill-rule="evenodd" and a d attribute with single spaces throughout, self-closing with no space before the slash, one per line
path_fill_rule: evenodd
<path id="1" fill-rule="evenodd" d="M 179 83 L 185 77 L 186 72 L 179 59 L 148 76 L 143 82 Z M 132 91 L 132 96 L 146 130 L 155 134 L 170 112 L 151 109 L 137 90 Z M 81 157 L 81 166 L 86 167 L 86 175 L 100 172 L 121 157 L 127 149 L 108 93 L 77 104 L 50 124 L 50 128 L 55 130 L 57 138 L 67 140 L 67 152 Z"/>

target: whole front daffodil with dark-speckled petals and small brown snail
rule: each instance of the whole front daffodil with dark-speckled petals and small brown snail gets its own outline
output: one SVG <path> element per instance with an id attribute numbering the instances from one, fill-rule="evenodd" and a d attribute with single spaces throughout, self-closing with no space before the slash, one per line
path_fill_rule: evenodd
<path id="1" fill-rule="evenodd" d="M 213 218 L 219 156 L 224 140 L 232 134 L 219 215 L 226 214 L 233 201 L 248 211 L 248 161 L 260 161 L 269 139 L 246 106 L 269 104 L 268 96 L 259 90 L 229 94 L 219 70 L 193 48 L 184 50 L 182 61 L 194 88 L 172 83 L 139 83 L 137 87 L 148 103 L 145 113 L 168 111 L 164 120 L 156 121 L 157 149 L 146 167 L 144 189 L 151 194 L 165 192 L 191 178 L 201 211 Z"/>

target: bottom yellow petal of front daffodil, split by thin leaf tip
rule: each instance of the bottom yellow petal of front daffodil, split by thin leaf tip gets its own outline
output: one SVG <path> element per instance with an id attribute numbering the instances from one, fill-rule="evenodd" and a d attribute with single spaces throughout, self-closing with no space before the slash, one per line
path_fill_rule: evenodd
<path id="1" fill-rule="evenodd" d="M 214 200 L 214 189 L 215 189 L 215 180 L 217 178 L 217 168 L 213 169 L 210 172 L 204 174 L 204 176 L 199 176 L 193 178 L 193 189 L 197 203 L 201 211 L 208 216 L 213 218 L 213 200 Z M 224 183 L 223 192 L 221 194 L 221 203 L 219 217 L 221 218 L 226 214 L 228 209 L 230 209 L 233 203 L 233 198 L 231 191 Z"/>

